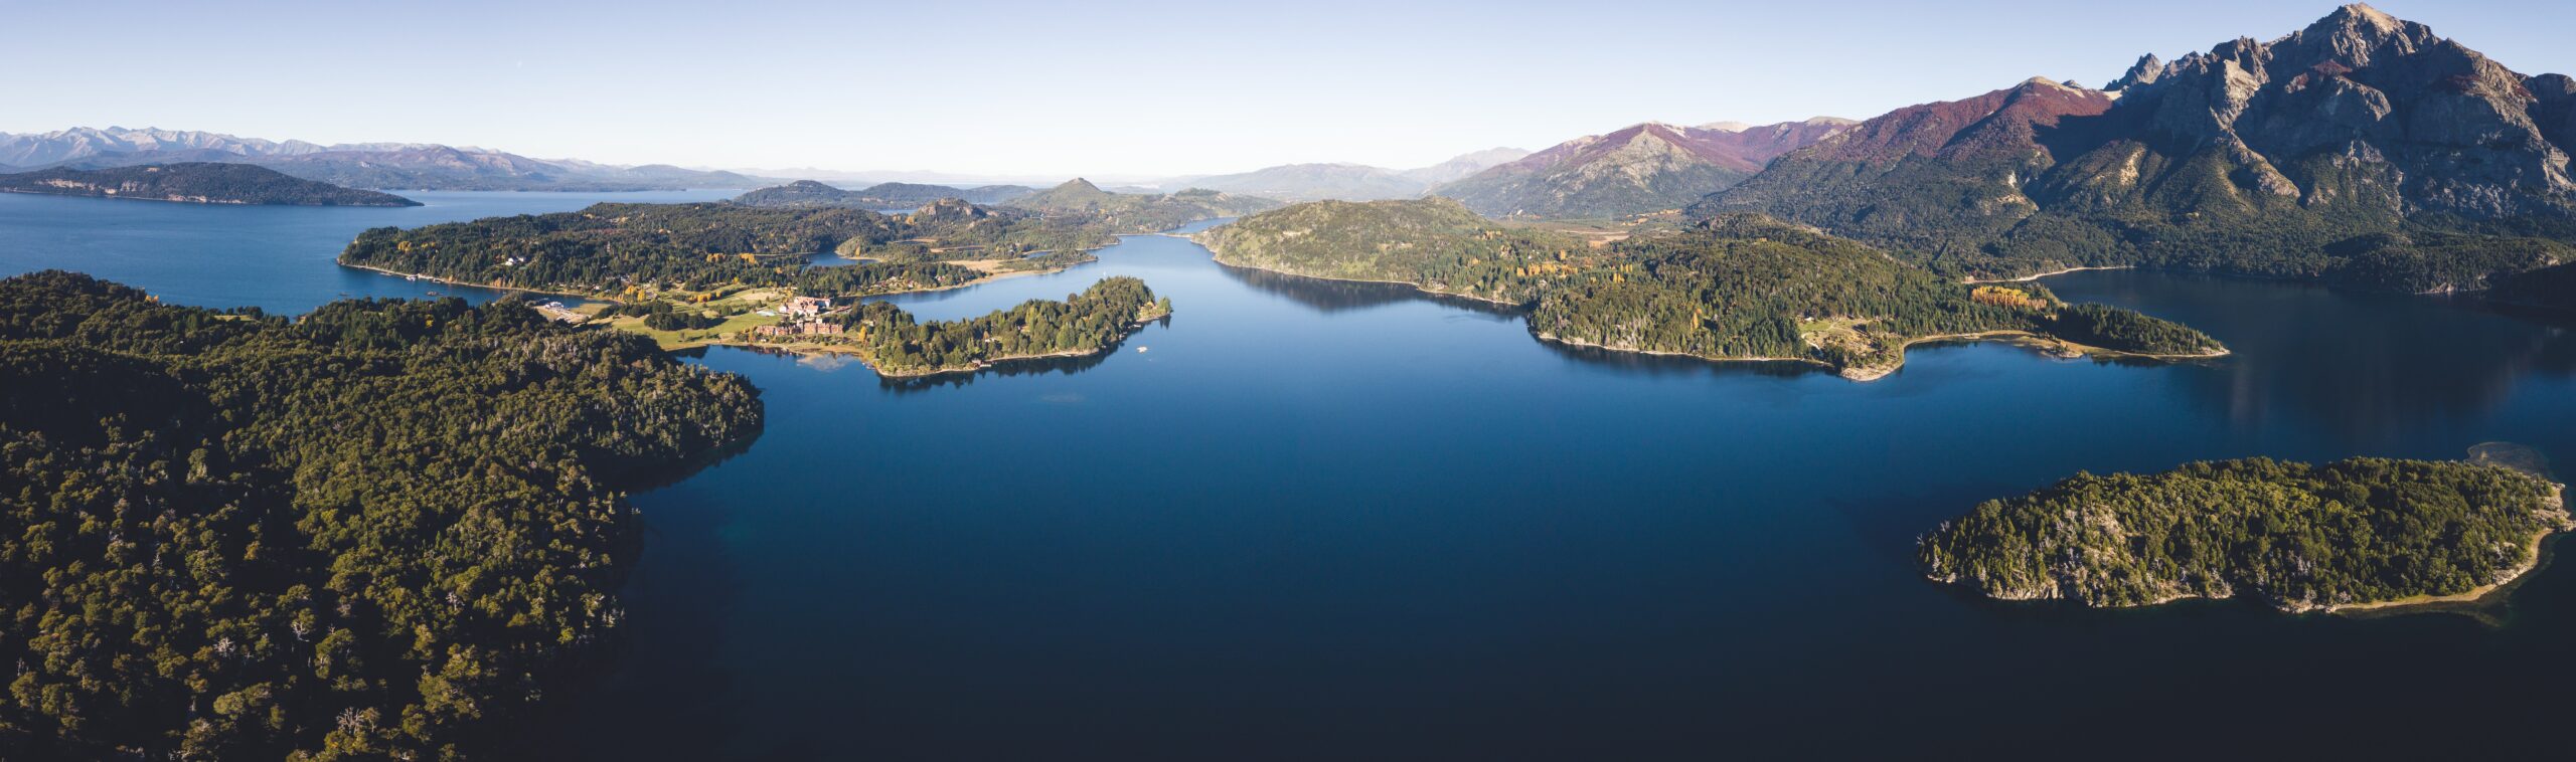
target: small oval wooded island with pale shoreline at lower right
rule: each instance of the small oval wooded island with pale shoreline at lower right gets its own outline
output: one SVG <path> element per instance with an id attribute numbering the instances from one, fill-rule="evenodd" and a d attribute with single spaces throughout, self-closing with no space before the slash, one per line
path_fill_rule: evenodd
<path id="1" fill-rule="evenodd" d="M 2285 613 L 2468 602 L 2568 530 L 2563 487 L 2478 461 L 2269 458 L 1989 499 L 1919 543 L 1929 579 L 2089 608 L 2254 597 Z"/>

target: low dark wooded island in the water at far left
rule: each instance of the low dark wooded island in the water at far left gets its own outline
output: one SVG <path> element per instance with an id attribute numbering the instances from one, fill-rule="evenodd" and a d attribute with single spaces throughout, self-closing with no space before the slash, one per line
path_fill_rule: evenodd
<path id="1" fill-rule="evenodd" d="M 0 175 L 0 193 L 142 198 L 180 203 L 420 206 L 420 201 L 299 180 L 252 165 L 152 165 Z"/>

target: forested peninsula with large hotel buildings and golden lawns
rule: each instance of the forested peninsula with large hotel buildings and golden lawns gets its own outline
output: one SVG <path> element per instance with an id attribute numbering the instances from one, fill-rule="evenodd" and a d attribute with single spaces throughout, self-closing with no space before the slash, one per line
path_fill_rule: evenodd
<path id="1" fill-rule="evenodd" d="M 1136 278 L 958 322 L 917 322 L 858 296 L 1064 270 L 1095 260 L 1084 247 L 1113 242 L 1095 219 L 956 198 L 896 216 L 848 206 L 600 203 L 577 214 L 371 229 L 340 263 L 608 299 L 554 314 L 598 319 L 662 348 L 845 353 L 884 376 L 930 376 L 1100 353 L 1172 306 Z M 822 250 L 863 260 L 814 265 Z"/>

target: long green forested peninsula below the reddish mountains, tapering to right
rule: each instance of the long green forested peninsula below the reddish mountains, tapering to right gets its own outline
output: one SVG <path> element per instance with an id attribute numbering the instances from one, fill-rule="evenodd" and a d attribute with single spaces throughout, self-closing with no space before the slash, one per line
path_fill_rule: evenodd
<path id="1" fill-rule="evenodd" d="M 1687 229 L 1571 234 L 1499 224 L 1448 198 L 1319 201 L 1198 237 L 1218 263 L 1412 283 L 1530 311 L 1540 340 L 1708 360 L 1803 360 L 1868 381 L 1924 340 L 1994 337 L 2058 353 L 2213 358 L 2190 327 L 2045 286 L 1971 286 L 1816 229 L 1726 214 Z"/>

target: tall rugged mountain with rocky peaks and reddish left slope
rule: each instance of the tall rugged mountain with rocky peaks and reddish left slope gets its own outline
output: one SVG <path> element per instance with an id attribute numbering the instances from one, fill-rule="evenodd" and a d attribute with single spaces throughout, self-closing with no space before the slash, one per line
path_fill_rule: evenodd
<path id="1" fill-rule="evenodd" d="M 1765 211 L 1953 275 L 2156 265 L 2393 291 L 2568 260 L 2576 80 L 2370 5 L 2272 41 L 2030 80 L 1793 152 L 1695 214 Z"/>

